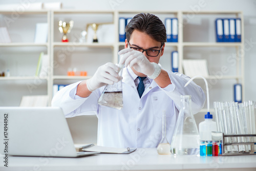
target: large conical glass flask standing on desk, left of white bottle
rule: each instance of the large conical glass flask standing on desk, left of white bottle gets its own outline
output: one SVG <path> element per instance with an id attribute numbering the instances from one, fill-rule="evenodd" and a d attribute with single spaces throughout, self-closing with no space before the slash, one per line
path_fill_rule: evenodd
<path id="1" fill-rule="evenodd" d="M 199 155 L 200 136 L 191 112 L 191 96 L 181 96 L 181 109 L 175 126 L 170 152 L 174 155 Z"/>

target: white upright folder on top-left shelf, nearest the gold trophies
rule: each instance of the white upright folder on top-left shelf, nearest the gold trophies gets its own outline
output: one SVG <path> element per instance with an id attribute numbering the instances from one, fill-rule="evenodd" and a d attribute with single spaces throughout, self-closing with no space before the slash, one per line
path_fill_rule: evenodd
<path id="1" fill-rule="evenodd" d="M 48 24 L 47 23 L 37 23 L 35 28 L 35 43 L 46 43 L 48 36 Z"/>

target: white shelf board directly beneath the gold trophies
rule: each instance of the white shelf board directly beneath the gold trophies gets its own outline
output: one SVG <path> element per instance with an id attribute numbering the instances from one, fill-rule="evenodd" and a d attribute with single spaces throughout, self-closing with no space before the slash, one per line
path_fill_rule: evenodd
<path id="1" fill-rule="evenodd" d="M 68 47 L 68 46 L 75 46 L 75 47 L 90 47 L 90 48 L 112 48 L 114 44 L 112 43 L 80 43 L 80 42 L 54 42 L 54 47 Z"/>

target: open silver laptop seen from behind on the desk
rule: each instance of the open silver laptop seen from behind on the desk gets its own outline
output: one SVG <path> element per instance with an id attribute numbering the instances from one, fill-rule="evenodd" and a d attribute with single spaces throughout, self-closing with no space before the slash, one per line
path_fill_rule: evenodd
<path id="1" fill-rule="evenodd" d="M 66 118 L 57 107 L 0 107 L 0 121 L 8 155 L 82 157 L 98 153 L 76 152 Z"/>

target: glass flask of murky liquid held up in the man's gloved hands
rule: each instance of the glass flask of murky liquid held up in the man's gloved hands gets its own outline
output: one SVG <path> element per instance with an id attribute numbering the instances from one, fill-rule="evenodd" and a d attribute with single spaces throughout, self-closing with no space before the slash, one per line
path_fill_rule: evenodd
<path id="1" fill-rule="evenodd" d="M 117 73 L 122 76 L 123 65 L 117 64 L 119 68 Z M 102 94 L 98 99 L 100 105 L 109 106 L 115 109 L 123 108 L 123 91 L 122 91 L 122 80 L 114 82 L 113 84 L 107 84 Z"/>

